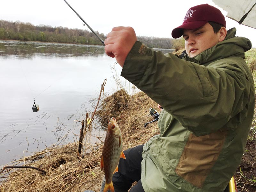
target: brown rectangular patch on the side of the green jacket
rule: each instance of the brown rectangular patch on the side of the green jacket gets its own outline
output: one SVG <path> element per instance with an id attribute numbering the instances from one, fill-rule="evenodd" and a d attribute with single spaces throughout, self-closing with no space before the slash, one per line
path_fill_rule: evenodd
<path id="1" fill-rule="evenodd" d="M 226 135 L 222 131 L 199 137 L 190 133 L 176 173 L 196 187 L 202 188 L 220 155 L 225 139 Z"/>

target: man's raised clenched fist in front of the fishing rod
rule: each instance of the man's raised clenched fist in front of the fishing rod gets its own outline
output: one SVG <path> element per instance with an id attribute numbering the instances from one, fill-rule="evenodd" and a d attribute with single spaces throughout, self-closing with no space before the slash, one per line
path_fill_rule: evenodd
<path id="1" fill-rule="evenodd" d="M 105 52 L 110 57 L 115 57 L 121 67 L 137 41 L 135 31 L 132 27 L 114 27 L 104 41 Z"/>

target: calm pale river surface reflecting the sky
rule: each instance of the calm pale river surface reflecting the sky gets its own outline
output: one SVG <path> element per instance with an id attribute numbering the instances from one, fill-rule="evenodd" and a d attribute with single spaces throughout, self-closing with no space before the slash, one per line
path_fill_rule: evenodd
<path id="1" fill-rule="evenodd" d="M 103 46 L 0 40 L 0 165 L 79 139 L 81 124 L 74 120 L 93 111 L 104 79 L 105 94 L 119 89 L 115 61 Z"/>

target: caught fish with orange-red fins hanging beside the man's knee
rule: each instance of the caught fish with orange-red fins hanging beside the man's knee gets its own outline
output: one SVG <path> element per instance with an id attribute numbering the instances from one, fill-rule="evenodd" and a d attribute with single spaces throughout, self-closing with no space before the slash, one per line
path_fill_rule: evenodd
<path id="1" fill-rule="evenodd" d="M 112 117 L 108 123 L 108 132 L 104 141 L 102 156 L 100 160 L 100 169 L 105 173 L 105 188 L 103 192 L 107 192 L 108 189 L 114 192 L 114 186 L 112 183 L 112 176 L 118 171 L 119 159 L 124 158 L 123 152 L 123 139 L 121 131 L 116 123 L 116 119 Z"/>

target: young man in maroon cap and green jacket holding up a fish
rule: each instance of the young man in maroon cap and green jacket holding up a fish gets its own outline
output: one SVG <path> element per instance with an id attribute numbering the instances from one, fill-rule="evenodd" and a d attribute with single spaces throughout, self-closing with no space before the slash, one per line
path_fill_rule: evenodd
<path id="1" fill-rule="evenodd" d="M 191 7 L 172 37 L 185 38 L 188 56 L 163 54 L 116 27 L 105 51 L 121 76 L 164 109 L 160 135 L 128 149 L 113 175 L 115 192 L 223 192 L 240 164 L 254 111 L 254 83 L 244 61 L 250 40 L 226 30 L 220 10 Z"/>

